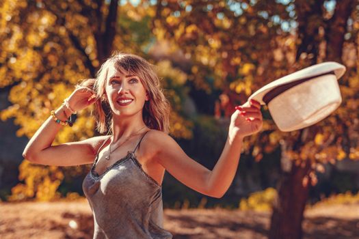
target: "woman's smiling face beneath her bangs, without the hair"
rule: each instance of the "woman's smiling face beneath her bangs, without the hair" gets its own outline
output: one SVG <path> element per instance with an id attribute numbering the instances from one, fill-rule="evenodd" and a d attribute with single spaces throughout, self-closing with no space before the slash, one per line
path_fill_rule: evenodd
<path id="1" fill-rule="evenodd" d="M 105 94 L 114 115 L 131 116 L 142 113 L 148 96 L 139 77 L 126 70 L 116 70 L 114 66 L 107 73 Z"/>

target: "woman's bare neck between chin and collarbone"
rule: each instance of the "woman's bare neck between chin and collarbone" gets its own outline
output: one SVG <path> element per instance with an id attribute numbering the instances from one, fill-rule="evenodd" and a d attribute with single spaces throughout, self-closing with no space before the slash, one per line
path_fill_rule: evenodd
<path id="1" fill-rule="evenodd" d="M 133 134 L 144 132 L 145 126 L 142 114 L 133 115 L 132 117 L 118 117 L 114 115 L 114 123 L 112 125 L 114 142 L 122 137 L 127 138 Z"/>

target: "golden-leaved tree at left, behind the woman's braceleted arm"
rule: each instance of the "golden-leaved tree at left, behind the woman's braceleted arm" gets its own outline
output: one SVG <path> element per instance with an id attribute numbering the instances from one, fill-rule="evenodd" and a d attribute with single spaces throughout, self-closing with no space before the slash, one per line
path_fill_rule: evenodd
<path id="1" fill-rule="evenodd" d="M 3 1 L 0 10 L 0 87 L 10 89 L 12 102 L 0 117 L 14 118 L 21 127 L 18 136 L 34 135 L 51 109 L 59 107 L 80 79 L 95 77 L 112 51 L 144 56 L 143 48 L 155 40 L 148 28 L 155 13 L 150 5 L 135 8 L 129 3 L 101 0 Z M 174 86 L 166 94 L 172 102 L 181 103 L 183 97 L 176 95 L 176 89 L 181 89 L 187 77 L 178 70 L 174 73 L 171 64 L 164 66 L 167 72 L 161 76 L 165 84 Z M 60 131 L 54 143 L 97 134 L 91 110 L 78 113 L 76 124 Z M 175 137 L 191 137 L 191 124 L 181 116 L 181 104 L 174 108 L 171 124 L 176 126 L 171 131 Z M 44 167 L 23 160 L 19 169 L 19 179 L 25 184 L 12 188 L 10 200 L 59 197 L 56 191 L 64 176 L 83 175 L 89 167 Z"/>

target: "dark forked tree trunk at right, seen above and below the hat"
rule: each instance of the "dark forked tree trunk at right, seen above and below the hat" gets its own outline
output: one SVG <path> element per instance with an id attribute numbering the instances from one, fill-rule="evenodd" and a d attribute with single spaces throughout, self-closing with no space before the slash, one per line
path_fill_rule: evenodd
<path id="1" fill-rule="evenodd" d="M 329 23 L 326 23 L 328 27 L 325 28 L 326 60 L 341 62 L 345 27 L 352 12 L 353 3 L 353 0 L 336 1 L 334 15 Z M 322 20 L 322 6 L 323 0 L 295 1 L 299 42 L 296 60 L 299 63 L 304 62 L 304 66 L 308 63 L 309 65 L 317 64 L 318 47 L 321 42 L 319 26 L 325 25 Z M 306 53 L 304 55 L 308 59 L 302 59 L 302 53 Z M 297 143 L 293 144 L 295 152 L 300 152 L 300 145 L 305 142 L 300 138 Z M 300 239 L 303 236 L 302 221 L 310 188 L 310 179 L 308 179 L 310 162 L 303 161 L 303 167 L 292 165 L 292 161 L 285 154 L 286 144 L 282 143 L 282 175 L 278 182 L 278 197 L 271 216 L 269 238 Z"/>

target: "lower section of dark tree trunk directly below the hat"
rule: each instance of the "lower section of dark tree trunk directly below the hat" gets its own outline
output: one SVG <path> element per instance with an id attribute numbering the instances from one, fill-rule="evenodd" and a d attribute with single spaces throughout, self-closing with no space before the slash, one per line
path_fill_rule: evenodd
<path id="1" fill-rule="evenodd" d="M 289 150 L 299 150 L 302 142 L 308 137 L 308 128 L 300 130 L 297 139 L 287 139 L 280 142 L 282 156 L 280 158 L 280 180 L 278 196 L 273 206 L 269 239 L 302 238 L 303 213 L 309 193 L 308 173 L 310 161 L 302 161 L 296 165 L 289 158 Z M 293 141 L 293 139 L 295 141 Z"/>

